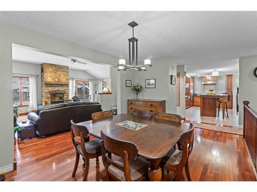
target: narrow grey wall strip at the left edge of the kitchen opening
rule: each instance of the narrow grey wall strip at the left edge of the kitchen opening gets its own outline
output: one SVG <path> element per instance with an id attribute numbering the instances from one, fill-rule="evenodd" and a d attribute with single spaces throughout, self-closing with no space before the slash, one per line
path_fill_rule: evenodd
<path id="1" fill-rule="evenodd" d="M 177 66 L 177 73 L 180 73 L 180 106 L 177 106 L 177 114 L 185 117 L 186 113 L 186 89 L 185 89 L 185 65 Z"/>

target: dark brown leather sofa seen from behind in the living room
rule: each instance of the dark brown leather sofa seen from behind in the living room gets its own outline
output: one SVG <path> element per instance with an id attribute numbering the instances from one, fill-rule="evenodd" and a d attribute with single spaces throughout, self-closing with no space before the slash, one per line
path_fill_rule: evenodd
<path id="1" fill-rule="evenodd" d="M 91 115 L 102 111 L 98 102 L 70 102 L 42 107 L 29 113 L 28 119 L 36 125 L 40 137 L 70 130 L 70 120 L 75 123 L 91 120 Z"/>

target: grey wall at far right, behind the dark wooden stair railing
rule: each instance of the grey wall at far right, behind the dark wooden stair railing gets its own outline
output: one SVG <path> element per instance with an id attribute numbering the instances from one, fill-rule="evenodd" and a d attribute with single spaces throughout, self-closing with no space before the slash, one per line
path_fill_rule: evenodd
<path id="1" fill-rule="evenodd" d="M 250 101 L 249 106 L 257 111 L 257 78 L 253 75 L 257 67 L 257 55 L 239 58 L 239 116 L 238 124 L 243 125 L 243 101 Z"/>

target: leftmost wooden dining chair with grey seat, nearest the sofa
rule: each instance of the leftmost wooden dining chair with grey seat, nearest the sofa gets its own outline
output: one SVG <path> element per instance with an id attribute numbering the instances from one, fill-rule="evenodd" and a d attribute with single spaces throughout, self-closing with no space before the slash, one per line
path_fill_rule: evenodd
<path id="1" fill-rule="evenodd" d="M 71 140 L 75 146 L 76 150 L 76 160 L 74 169 L 72 172 L 72 177 L 75 176 L 79 164 L 80 155 L 83 160 L 85 160 L 85 171 L 83 175 L 83 181 L 86 181 L 88 170 L 89 170 L 89 160 L 96 158 L 96 163 L 99 164 L 99 158 L 101 156 L 101 139 L 91 140 L 85 143 L 85 138 L 88 135 L 88 129 L 86 126 L 78 125 L 72 120 L 71 123 Z M 80 140 L 77 140 L 80 137 Z"/>

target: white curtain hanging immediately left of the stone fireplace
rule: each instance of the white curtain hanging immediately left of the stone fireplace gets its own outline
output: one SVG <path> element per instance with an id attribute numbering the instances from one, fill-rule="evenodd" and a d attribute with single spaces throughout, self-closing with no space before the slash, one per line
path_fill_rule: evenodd
<path id="1" fill-rule="evenodd" d="M 36 75 L 29 75 L 29 110 L 38 108 L 36 98 Z"/>

